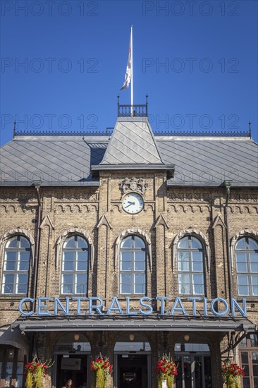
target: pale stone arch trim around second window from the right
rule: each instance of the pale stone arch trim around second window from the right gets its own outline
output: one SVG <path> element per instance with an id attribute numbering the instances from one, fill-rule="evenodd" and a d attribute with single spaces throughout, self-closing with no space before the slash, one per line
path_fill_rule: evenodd
<path id="1" fill-rule="evenodd" d="M 172 257 L 172 269 L 173 269 L 173 272 L 175 272 L 176 270 L 176 257 L 177 257 L 177 246 L 178 246 L 178 241 L 180 240 L 180 238 L 183 238 L 185 236 L 188 236 L 188 235 L 191 235 L 191 236 L 195 236 L 197 238 L 199 238 L 199 240 L 202 241 L 202 243 L 204 244 L 204 257 L 206 257 L 206 261 L 207 261 L 207 271 L 208 271 L 208 274 L 209 274 L 209 269 L 210 269 L 210 265 L 211 265 L 211 248 L 209 246 L 209 241 L 207 239 L 207 237 L 199 230 L 197 229 L 185 229 L 184 231 L 180 231 L 180 233 L 178 233 L 176 235 L 176 237 L 173 239 L 173 257 Z"/>

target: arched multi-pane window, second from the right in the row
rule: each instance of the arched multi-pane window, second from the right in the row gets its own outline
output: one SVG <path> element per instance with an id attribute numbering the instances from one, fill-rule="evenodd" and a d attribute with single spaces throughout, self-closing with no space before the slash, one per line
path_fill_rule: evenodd
<path id="1" fill-rule="evenodd" d="M 203 247 L 193 236 L 178 242 L 178 287 L 182 295 L 204 295 Z"/>

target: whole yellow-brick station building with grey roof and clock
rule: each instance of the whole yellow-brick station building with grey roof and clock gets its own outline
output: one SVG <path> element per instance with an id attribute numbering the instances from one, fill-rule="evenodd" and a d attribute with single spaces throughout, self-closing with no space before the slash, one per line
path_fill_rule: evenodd
<path id="1" fill-rule="evenodd" d="M 129 110 L 128 110 L 129 109 Z M 1 387 L 33 357 L 52 387 L 258 387 L 258 147 L 250 136 L 154 135 L 118 104 L 112 135 L 15 133 L 1 148 Z"/>

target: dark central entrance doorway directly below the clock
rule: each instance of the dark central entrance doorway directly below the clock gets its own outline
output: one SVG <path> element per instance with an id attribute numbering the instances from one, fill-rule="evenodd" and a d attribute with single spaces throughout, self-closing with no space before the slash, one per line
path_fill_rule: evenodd
<path id="1" fill-rule="evenodd" d="M 118 355 L 118 387 L 147 388 L 147 355 Z"/>

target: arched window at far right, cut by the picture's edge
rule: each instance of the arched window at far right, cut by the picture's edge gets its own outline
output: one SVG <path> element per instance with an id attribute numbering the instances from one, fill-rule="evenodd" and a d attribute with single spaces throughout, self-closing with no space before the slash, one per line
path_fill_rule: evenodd
<path id="1" fill-rule="evenodd" d="M 238 295 L 258 295 L 258 243 L 243 237 L 235 244 Z"/>

